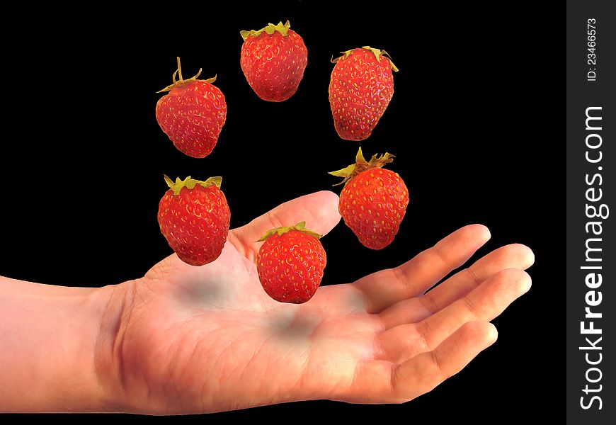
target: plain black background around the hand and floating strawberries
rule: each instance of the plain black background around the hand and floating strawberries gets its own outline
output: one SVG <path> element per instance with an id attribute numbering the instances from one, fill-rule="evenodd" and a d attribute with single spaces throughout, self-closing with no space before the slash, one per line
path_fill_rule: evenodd
<path id="1" fill-rule="evenodd" d="M 342 223 L 323 240 L 324 285 L 396 266 L 453 230 L 489 226 L 474 259 L 511 242 L 530 246 L 534 286 L 494 320 L 499 339 L 462 373 L 403 405 L 300 402 L 197 420 L 314 416 L 488 424 L 553 415 L 560 392 L 564 297 L 564 187 L 554 103 L 557 18 L 534 8 L 443 6 L 408 12 L 287 1 L 228 10 L 168 6 L 16 13 L 3 31 L 0 275 L 39 283 L 101 286 L 142 276 L 171 254 L 156 223 L 163 174 L 223 176 L 232 227 L 322 189 L 326 171 L 366 156 L 397 155 L 391 169 L 411 203 L 394 242 L 363 248 Z M 212 6 L 214 7 L 214 6 Z M 153 16 L 155 18 L 151 18 Z M 309 52 L 297 94 L 261 101 L 239 67 L 239 30 L 290 19 Z M 542 26 L 540 39 L 533 28 Z M 371 45 L 399 67 L 394 97 L 368 140 L 341 140 L 327 88 L 338 52 Z M 539 53 L 540 52 L 540 53 Z M 203 67 L 227 100 L 227 123 L 205 159 L 178 152 L 154 116 L 155 92 Z M 557 99 L 558 98 L 558 99 Z M 333 188 L 339 192 L 339 188 Z"/>

